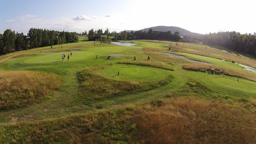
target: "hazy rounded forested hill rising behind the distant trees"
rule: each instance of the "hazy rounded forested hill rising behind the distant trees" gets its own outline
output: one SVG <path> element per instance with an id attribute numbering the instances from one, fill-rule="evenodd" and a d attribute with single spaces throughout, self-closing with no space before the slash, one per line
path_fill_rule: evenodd
<path id="1" fill-rule="evenodd" d="M 154 27 L 150 27 L 150 28 L 146 28 L 143 29 L 142 31 L 149 31 L 149 29 L 152 29 L 154 31 L 171 31 L 172 33 L 174 33 L 175 31 L 179 32 L 179 35 L 181 36 L 192 36 L 192 37 L 201 37 L 203 36 L 203 34 L 198 34 L 198 33 L 192 33 L 188 30 L 182 29 L 180 27 L 176 27 L 176 26 L 154 26 Z"/>

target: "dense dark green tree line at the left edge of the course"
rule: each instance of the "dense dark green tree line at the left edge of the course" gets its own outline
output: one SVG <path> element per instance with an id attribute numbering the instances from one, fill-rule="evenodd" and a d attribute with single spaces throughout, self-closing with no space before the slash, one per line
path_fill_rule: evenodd
<path id="1" fill-rule="evenodd" d="M 0 34 L 0 55 L 35 47 L 78 42 L 78 33 L 31 28 L 27 35 L 10 29 Z"/>

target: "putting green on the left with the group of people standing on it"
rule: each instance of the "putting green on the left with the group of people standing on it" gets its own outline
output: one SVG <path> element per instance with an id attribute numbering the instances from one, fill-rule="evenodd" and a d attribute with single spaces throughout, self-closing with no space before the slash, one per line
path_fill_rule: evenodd
<path id="1" fill-rule="evenodd" d="M 61 62 L 62 57 L 61 55 L 66 55 L 65 60 L 68 60 L 68 55 L 70 55 L 70 51 L 64 52 L 56 52 L 51 54 L 38 54 L 38 56 L 30 57 L 24 60 L 24 63 L 32 64 L 32 63 L 54 63 L 54 62 Z M 85 51 L 73 51 L 72 56 L 70 56 L 70 60 L 81 60 L 87 59 L 90 56 L 94 55 L 91 52 Z"/>

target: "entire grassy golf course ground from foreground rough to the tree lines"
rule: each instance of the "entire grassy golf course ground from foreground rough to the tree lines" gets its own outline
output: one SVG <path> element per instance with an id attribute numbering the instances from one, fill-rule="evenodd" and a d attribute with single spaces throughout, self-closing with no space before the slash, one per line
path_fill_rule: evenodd
<path id="1" fill-rule="evenodd" d="M 0 56 L 0 143 L 145 143 L 166 134 L 252 142 L 256 73 L 230 61 L 253 67 L 253 58 L 196 43 L 87 39 Z"/>

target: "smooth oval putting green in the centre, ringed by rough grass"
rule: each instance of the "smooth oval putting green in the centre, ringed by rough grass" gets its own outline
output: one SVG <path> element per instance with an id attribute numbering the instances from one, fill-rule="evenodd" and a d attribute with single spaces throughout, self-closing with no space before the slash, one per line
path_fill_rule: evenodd
<path id="1" fill-rule="evenodd" d="M 103 69 L 100 73 L 116 80 L 150 81 L 164 79 L 170 74 L 170 71 L 145 66 L 115 64 L 110 68 Z"/>

